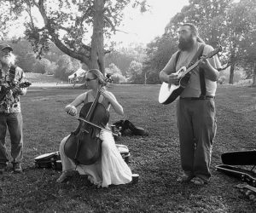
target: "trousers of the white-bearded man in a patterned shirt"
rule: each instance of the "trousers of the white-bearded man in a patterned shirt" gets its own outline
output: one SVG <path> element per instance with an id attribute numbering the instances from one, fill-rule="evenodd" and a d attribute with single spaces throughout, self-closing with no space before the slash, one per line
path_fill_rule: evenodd
<path id="1" fill-rule="evenodd" d="M 17 163 L 22 159 L 22 115 L 21 112 L 0 113 L 0 163 L 9 161 L 5 145 L 7 128 L 11 141 L 12 162 Z"/>

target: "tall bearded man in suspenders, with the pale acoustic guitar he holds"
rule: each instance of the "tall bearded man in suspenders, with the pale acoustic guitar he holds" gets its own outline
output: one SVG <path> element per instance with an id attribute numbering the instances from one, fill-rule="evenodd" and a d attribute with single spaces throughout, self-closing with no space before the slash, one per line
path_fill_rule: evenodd
<path id="1" fill-rule="evenodd" d="M 220 49 L 205 44 L 196 26 L 190 23 L 179 27 L 178 38 L 179 51 L 160 72 L 160 80 L 169 91 L 161 88 L 159 101 L 168 104 L 179 96 L 177 127 L 183 175 L 177 181 L 203 185 L 211 177 L 212 144 L 217 128 L 214 98 L 221 68 L 216 54 Z"/>

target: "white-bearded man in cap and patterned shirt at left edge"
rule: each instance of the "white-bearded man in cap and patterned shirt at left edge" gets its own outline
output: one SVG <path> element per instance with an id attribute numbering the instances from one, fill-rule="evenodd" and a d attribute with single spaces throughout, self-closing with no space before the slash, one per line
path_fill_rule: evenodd
<path id="1" fill-rule="evenodd" d="M 5 146 L 7 128 L 11 141 L 11 158 L 14 172 L 22 171 L 22 116 L 20 110 L 20 95 L 26 94 L 23 70 L 15 66 L 15 55 L 9 44 L 0 44 L 0 174 L 7 168 L 9 161 Z"/>

